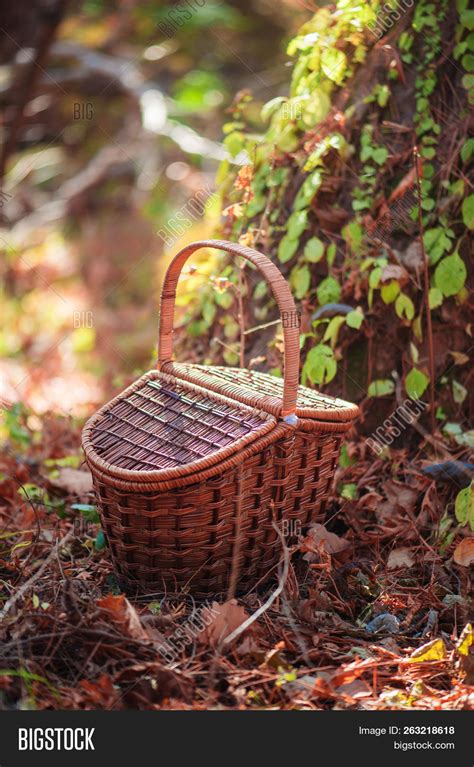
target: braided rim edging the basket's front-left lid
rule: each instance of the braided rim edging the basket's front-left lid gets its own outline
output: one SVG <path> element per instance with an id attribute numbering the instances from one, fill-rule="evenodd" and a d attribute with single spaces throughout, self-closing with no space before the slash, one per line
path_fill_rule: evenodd
<path id="1" fill-rule="evenodd" d="M 259 418 L 262 423 L 248 434 L 239 437 L 229 445 L 215 450 L 210 455 L 204 456 L 203 458 L 199 458 L 194 461 L 189 461 L 188 463 L 184 463 L 179 466 L 153 469 L 151 471 L 144 471 L 143 469 L 123 469 L 120 466 L 116 466 L 115 464 L 106 461 L 97 453 L 93 444 L 92 432 L 94 426 L 100 422 L 103 416 L 117 402 L 126 399 L 127 396 L 133 394 L 135 391 L 140 389 L 144 383 L 150 380 L 161 380 L 168 384 L 177 383 L 185 390 L 201 394 L 202 396 L 205 396 L 219 404 L 224 404 L 232 407 L 236 411 L 243 410 L 249 415 Z M 195 383 L 183 380 L 173 375 L 169 375 L 168 373 L 159 370 L 150 370 L 148 373 L 140 376 L 140 378 L 134 381 L 130 386 L 109 400 L 109 402 L 107 402 L 105 405 L 102 405 L 102 407 L 100 407 L 99 410 L 97 410 L 87 420 L 82 431 L 82 446 L 87 461 L 93 468 L 98 469 L 101 473 L 104 473 L 107 476 L 115 477 L 116 479 L 129 482 L 138 482 L 141 484 L 143 482 L 155 483 L 167 480 L 179 481 L 180 479 L 184 480 L 191 475 L 194 476 L 194 481 L 197 481 L 200 472 L 205 472 L 210 467 L 221 464 L 226 459 L 230 459 L 231 463 L 238 465 L 241 462 L 239 453 L 242 452 L 242 449 L 274 430 L 277 425 L 278 422 L 275 416 L 267 413 L 264 410 L 251 407 L 245 403 L 236 402 L 234 399 L 226 397 L 218 392 L 206 389 L 202 386 L 197 386 Z M 196 475 L 198 476 L 196 477 Z"/>

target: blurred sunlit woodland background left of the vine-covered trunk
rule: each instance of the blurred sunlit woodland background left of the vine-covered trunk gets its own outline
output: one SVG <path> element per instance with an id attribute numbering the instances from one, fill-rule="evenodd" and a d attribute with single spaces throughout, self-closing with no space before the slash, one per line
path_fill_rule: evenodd
<path id="1" fill-rule="evenodd" d="M 226 110 L 251 89 L 252 124 L 263 129 L 260 107 L 286 88 L 285 44 L 311 15 L 289 0 L 186 7 L 186 16 L 157 0 L 4 9 L 6 402 L 84 414 L 152 364 L 161 275 L 183 239 L 168 252 L 158 232 L 205 190 L 208 216 L 184 239 L 212 234 Z M 169 26 L 170 11 L 180 26 Z"/>

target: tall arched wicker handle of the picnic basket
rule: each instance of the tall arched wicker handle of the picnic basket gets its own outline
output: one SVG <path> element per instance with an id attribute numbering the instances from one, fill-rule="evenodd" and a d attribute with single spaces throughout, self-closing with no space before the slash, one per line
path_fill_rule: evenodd
<path id="1" fill-rule="evenodd" d="M 176 286 L 181 270 L 188 258 L 199 248 L 216 248 L 231 253 L 233 256 L 242 256 L 254 264 L 261 272 L 271 288 L 273 296 L 278 304 L 283 324 L 284 351 L 284 379 L 283 379 L 283 407 L 281 415 L 289 423 L 293 423 L 296 416 L 296 397 L 299 384 L 299 361 L 300 339 L 299 323 L 296 321 L 296 306 L 291 295 L 287 281 L 275 264 L 263 253 L 244 245 L 236 245 L 225 240 L 201 240 L 186 245 L 185 248 L 173 258 L 165 274 L 163 289 L 161 292 L 160 307 L 160 330 L 158 365 L 160 368 L 172 358 L 173 354 L 173 320 L 176 300 Z M 292 321 L 285 323 L 286 317 Z"/>

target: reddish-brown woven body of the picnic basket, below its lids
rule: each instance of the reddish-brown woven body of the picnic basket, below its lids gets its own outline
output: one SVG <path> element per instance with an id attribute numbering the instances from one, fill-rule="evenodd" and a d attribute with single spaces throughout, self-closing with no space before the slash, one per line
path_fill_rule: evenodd
<path id="1" fill-rule="evenodd" d="M 219 390 L 220 375 L 213 368 L 193 367 L 179 366 L 182 380 L 192 380 L 193 392 L 208 397 L 208 379 Z M 228 375 L 235 384 L 231 370 Z M 160 378 L 167 384 L 177 380 L 152 371 L 127 391 Z M 306 391 L 310 397 L 314 394 Z M 261 388 L 253 396 L 262 397 Z M 239 399 L 248 398 L 252 393 L 242 388 Z M 122 399 L 127 392 L 116 401 Z M 230 400 L 219 401 L 224 399 Z M 242 407 L 250 408 L 238 404 L 240 413 Z M 110 404 L 103 409 L 106 413 L 107 408 Z M 102 423 L 103 411 L 88 422 L 84 446 L 121 586 L 130 593 L 189 591 L 197 598 L 246 591 L 271 576 L 282 551 L 275 522 L 290 543 L 309 524 L 323 519 L 350 426 L 349 421 L 309 418 L 286 426 L 269 414 L 263 422 L 264 429 L 271 425 L 268 431 L 213 466 L 183 477 L 150 479 L 150 472 L 140 471 L 139 478 L 129 478 L 127 470 L 122 475 L 114 465 L 111 473 L 99 462 L 94 427 Z M 340 407 L 335 405 L 333 412 L 340 417 Z"/>

